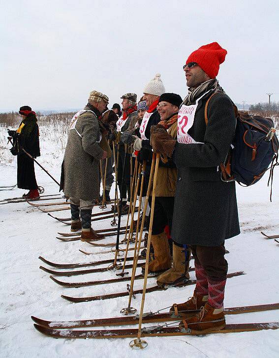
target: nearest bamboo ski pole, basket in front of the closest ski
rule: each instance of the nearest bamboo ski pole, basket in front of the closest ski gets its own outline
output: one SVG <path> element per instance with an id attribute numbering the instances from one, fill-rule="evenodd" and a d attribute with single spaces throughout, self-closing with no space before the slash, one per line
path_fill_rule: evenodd
<path id="1" fill-rule="evenodd" d="M 153 154 L 153 156 L 155 156 L 155 153 Z M 151 243 L 152 226 L 153 226 L 153 218 L 154 218 L 155 193 L 156 193 L 156 183 L 157 183 L 159 160 L 160 160 L 160 154 L 157 153 L 156 154 L 155 172 L 154 172 L 154 178 L 153 178 L 153 192 L 152 192 L 152 203 L 151 203 L 151 213 L 150 213 L 150 224 L 149 224 L 149 231 L 148 231 L 148 241 L 147 241 L 147 249 L 146 249 L 143 293 L 142 293 L 141 308 L 140 308 L 140 315 L 139 315 L 139 330 L 138 330 L 137 338 L 130 342 L 130 347 L 133 349 L 143 349 L 147 346 L 147 342 L 145 340 L 141 339 L 141 325 L 142 325 L 142 315 L 143 315 L 143 309 L 144 309 L 147 276 L 148 276 L 149 253 L 150 253 L 150 243 Z"/>

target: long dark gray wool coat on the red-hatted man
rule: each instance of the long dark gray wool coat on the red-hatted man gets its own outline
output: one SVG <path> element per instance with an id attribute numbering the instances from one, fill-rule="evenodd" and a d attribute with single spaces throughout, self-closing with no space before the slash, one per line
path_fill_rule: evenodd
<path id="1" fill-rule="evenodd" d="M 198 104 L 188 133 L 204 144 L 177 143 L 173 159 L 178 169 L 172 239 L 180 244 L 218 246 L 240 233 L 235 183 L 220 179 L 218 165 L 225 159 L 234 136 L 235 115 L 230 98 L 218 93 L 208 106 Z"/>

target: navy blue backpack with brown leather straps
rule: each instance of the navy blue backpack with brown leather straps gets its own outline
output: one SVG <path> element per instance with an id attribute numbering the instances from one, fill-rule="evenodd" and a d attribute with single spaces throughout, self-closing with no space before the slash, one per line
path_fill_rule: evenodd
<path id="1" fill-rule="evenodd" d="M 211 97 L 214 96 L 211 95 Z M 207 124 L 207 107 L 211 97 L 205 105 L 205 122 Z M 274 123 L 270 118 L 251 116 L 239 112 L 234 105 L 236 128 L 227 157 L 220 164 L 221 180 L 236 181 L 240 185 L 250 186 L 259 181 L 264 173 L 270 169 L 272 184 L 273 170 L 278 163 L 279 142 L 276 134 L 271 141 L 264 140 Z M 268 181 L 268 184 L 269 184 Z"/>

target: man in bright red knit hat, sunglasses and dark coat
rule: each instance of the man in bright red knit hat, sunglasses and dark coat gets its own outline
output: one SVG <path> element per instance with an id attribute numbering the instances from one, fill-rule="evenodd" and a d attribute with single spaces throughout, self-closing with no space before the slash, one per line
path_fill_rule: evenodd
<path id="1" fill-rule="evenodd" d="M 199 333 L 225 326 L 224 240 L 240 233 L 235 183 L 224 183 L 219 168 L 236 124 L 233 103 L 216 79 L 226 54 L 217 42 L 190 54 L 183 66 L 188 95 L 178 114 L 177 140 L 159 128 L 151 136 L 154 151 L 173 157 L 178 169 L 172 239 L 189 246 L 195 260 L 193 296 L 170 311 L 185 318 L 182 330 Z M 188 310 L 197 314 L 189 318 Z"/>

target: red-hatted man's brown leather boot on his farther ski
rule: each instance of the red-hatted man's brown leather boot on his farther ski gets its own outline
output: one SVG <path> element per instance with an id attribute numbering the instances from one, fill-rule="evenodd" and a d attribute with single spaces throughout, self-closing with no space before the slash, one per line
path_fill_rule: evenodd
<path id="1" fill-rule="evenodd" d="M 208 295 L 196 294 L 194 291 L 192 297 L 184 303 L 174 303 L 170 308 L 170 314 L 177 317 L 188 317 L 193 315 L 203 307 L 208 300 Z"/>

